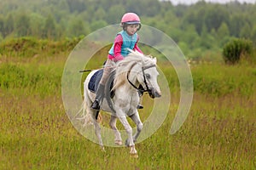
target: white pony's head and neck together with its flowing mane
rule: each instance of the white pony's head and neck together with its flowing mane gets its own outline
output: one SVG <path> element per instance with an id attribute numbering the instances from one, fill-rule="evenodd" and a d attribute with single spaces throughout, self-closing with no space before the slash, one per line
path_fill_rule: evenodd
<path id="1" fill-rule="evenodd" d="M 129 82 L 128 85 L 133 88 L 148 92 L 151 98 L 159 98 L 161 92 L 157 82 L 159 73 L 156 70 L 156 59 L 137 51 L 130 51 L 131 53 L 117 65 L 113 88 L 118 88 L 125 82 Z M 143 89 L 138 88 L 140 85 Z"/>

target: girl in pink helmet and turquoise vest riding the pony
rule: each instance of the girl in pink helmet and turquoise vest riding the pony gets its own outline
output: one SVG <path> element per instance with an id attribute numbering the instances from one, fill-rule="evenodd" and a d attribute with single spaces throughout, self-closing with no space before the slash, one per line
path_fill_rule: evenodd
<path id="1" fill-rule="evenodd" d="M 91 108 L 100 110 L 100 103 L 104 98 L 105 83 L 108 80 L 109 73 L 113 71 L 115 63 L 121 59 L 124 59 L 130 51 L 126 48 L 137 50 L 143 53 L 140 48 L 137 47 L 139 37 L 137 31 L 141 28 L 140 18 L 135 13 L 126 13 L 123 15 L 120 26 L 123 27 L 123 31 L 120 31 L 114 39 L 113 46 L 108 51 L 108 59 L 103 69 L 102 80 L 96 91 L 96 99 L 92 103 Z M 138 109 L 143 109 L 142 105 L 137 106 Z"/>

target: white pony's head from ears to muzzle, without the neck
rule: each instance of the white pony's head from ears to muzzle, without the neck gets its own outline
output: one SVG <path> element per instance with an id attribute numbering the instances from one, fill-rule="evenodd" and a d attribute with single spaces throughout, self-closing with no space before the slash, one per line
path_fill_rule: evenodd
<path id="1" fill-rule="evenodd" d="M 156 69 L 156 58 L 144 56 L 141 71 L 138 71 L 137 81 L 143 86 L 145 92 L 148 92 L 151 98 L 159 98 L 161 96 L 160 87 L 157 82 L 159 72 Z"/>

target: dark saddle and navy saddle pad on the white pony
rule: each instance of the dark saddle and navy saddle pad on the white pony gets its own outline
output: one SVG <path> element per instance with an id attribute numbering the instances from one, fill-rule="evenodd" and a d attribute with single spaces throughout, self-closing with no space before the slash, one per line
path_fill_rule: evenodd
<path id="1" fill-rule="evenodd" d="M 114 74 L 114 73 L 111 73 L 111 74 Z M 90 82 L 88 83 L 88 89 L 90 90 L 90 92 L 96 94 L 97 88 L 102 79 L 102 75 L 103 75 L 103 69 L 100 69 L 96 71 L 92 77 L 90 77 Z M 113 88 L 113 79 L 110 81 L 107 81 L 105 84 L 105 91 L 109 90 L 108 92 L 110 93 L 111 98 L 113 98 L 114 96 L 114 91 L 111 90 L 112 88 Z"/>

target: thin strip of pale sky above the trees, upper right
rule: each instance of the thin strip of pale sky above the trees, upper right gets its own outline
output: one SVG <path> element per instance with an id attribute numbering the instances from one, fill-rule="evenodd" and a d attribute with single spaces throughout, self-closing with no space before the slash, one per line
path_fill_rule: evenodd
<path id="1" fill-rule="evenodd" d="M 177 5 L 177 3 L 183 3 L 183 4 L 191 4 L 196 3 L 200 0 L 170 0 L 173 5 Z M 230 3 L 230 2 L 238 1 L 240 3 L 256 3 L 256 0 L 205 0 L 205 2 L 210 3 Z"/>

